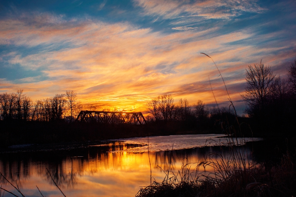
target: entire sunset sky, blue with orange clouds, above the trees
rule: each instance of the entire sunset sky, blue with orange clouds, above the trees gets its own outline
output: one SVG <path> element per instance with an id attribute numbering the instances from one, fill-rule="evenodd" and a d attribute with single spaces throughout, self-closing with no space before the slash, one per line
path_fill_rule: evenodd
<path id="1" fill-rule="evenodd" d="M 146 111 L 171 94 L 245 108 L 245 69 L 285 77 L 296 56 L 296 1 L 0 0 L 0 93 L 74 90 L 85 105 Z"/>

